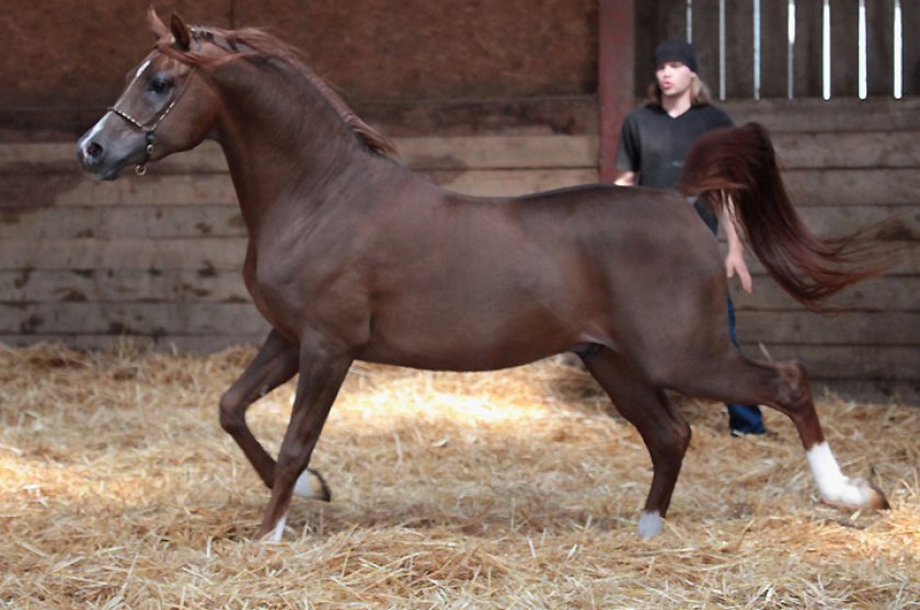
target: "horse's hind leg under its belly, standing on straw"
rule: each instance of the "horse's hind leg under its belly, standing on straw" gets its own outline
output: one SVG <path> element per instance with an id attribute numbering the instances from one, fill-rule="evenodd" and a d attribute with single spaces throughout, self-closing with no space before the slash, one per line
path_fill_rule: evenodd
<path id="1" fill-rule="evenodd" d="M 622 355 L 601 349 L 584 362 L 617 410 L 639 429 L 652 456 L 652 487 L 637 528 L 641 538 L 652 538 L 662 531 L 662 518 L 690 445 L 690 426 L 664 391 L 646 382 Z"/>

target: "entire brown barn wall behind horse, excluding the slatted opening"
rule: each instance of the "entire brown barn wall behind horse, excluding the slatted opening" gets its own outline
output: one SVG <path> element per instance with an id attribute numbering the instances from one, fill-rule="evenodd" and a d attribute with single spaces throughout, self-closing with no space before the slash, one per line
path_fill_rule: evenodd
<path id="1" fill-rule="evenodd" d="M 515 195 L 598 179 L 597 7 L 624 1 L 483 0 L 480 13 L 437 14 L 388 0 L 157 5 L 189 22 L 272 27 L 396 139 L 407 164 L 449 188 Z M 100 4 L 0 13 L 0 76 L 15 83 L 0 90 L 0 342 L 100 347 L 130 336 L 208 350 L 258 341 L 265 325 L 239 275 L 245 234 L 216 147 L 111 184 L 85 180 L 73 162 L 73 137 L 152 42 L 146 5 Z M 619 56 L 634 55 L 639 70 L 648 4 L 634 7 L 635 49 Z M 726 108 L 773 131 L 793 199 L 817 232 L 894 216 L 882 237 L 905 245 L 890 273 L 843 296 L 855 309 L 846 318 L 804 312 L 755 268 L 755 294 L 737 299 L 745 349 L 800 358 L 832 387 L 920 396 L 920 99 Z"/>

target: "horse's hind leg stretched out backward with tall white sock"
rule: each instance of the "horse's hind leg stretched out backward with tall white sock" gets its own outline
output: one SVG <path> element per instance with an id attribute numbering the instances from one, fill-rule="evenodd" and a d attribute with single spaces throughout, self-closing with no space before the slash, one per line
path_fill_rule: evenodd
<path id="1" fill-rule="evenodd" d="M 808 378 L 798 362 L 756 362 L 733 355 L 721 376 L 700 375 L 676 388 L 689 395 L 726 402 L 767 404 L 795 425 L 821 499 L 844 508 L 888 508 L 878 487 L 864 479 L 844 476 L 825 440 Z"/>

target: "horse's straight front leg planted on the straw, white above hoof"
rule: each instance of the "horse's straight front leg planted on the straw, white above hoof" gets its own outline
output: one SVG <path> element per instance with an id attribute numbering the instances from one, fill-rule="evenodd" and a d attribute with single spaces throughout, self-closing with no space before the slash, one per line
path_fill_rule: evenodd
<path id="1" fill-rule="evenodd" d="M 275 465 L 275 481 L 272 485 L 272 498 L 265 508 L 258 534 L 269 536 L 279 541 L 287 520 L 288 507 L 292 494 L 301 492 L 315 475 L 308 469 L 310 456 L 320 439 L 323 425 L 338 389 L 345 380 L 352 358 L 332 356 L 315 348 L 302 348 L 300 352 L 300 379 L 297 396 L 290 415 L 285 438 Z M 303 474 L 309 474 L 304 481 Z M 324 487 L 323 483 L 323 487 Z"/>

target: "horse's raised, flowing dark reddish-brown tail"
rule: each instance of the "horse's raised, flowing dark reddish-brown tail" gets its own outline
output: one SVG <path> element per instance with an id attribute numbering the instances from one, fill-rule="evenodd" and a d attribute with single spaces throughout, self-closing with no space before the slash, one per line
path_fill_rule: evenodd
<path id="1" fill-rule="evenodd" d="M 813 311 L 844 309 L 824 301 L 893 262 L 890 251 L 869 239 L 877 227 L 836 239 L 805 227 L 786 195 L 770 136 L 757 123 L 702 136 L 687 157 L 679 187 L 716 212 L 734 202 L 741 239 L 770 276 Z"/>

